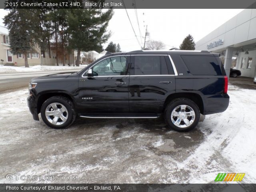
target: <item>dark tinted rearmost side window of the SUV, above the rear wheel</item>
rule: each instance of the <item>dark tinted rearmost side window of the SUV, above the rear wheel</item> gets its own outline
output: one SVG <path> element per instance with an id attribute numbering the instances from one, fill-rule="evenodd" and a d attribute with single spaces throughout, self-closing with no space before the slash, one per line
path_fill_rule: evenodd
<path id="1" fill-rule="evenodd" d="M 182 55 L 181 58 L 193 75 L 222 75 L 214 56 Z"/>

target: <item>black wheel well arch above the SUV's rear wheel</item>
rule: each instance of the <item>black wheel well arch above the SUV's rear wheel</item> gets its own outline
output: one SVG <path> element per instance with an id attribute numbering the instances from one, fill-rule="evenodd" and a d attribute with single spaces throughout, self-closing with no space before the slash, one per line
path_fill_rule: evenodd
<path id="1" fill-rule="evenodd" d="M 195 102 L 200 110 L 201 114 L 204 114 L 204 102 L 202 100 L 202 97 L 199 94 L 196 93 L 186 93 L 186 92 L 181 92 L 181 93 L 174 93 L 170 94 L 165 102 L 164 102 L 164 108 L 170 103 L 172 100 L 176 98 L 188 98 Z"/>

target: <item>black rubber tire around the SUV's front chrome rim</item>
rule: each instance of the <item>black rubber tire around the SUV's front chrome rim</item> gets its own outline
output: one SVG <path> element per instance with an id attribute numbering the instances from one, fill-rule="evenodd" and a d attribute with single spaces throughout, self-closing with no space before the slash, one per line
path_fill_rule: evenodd
<path id="1" fill-rule="evenodd" d="M 66 108 L 66 114 L 67 118 L 66 121 L 63 124 L 52 124 L 51 122 L 49 122 L 48 117 L 46 117 L 46 108 L 53 103 L 59 103 L 61 105 L 63 105 Z M 59 109 L 59 108 L 58 108 Z M 49 127 L 55 128 L 55 129 L 62 129 L 62 128 L 67 128 L 68 126 L 70 126 L 76 119 L 76 112 L 74 110 L 74 105 L 73 103 L 66 97 L 64 96 L 53 96 L 48 98 L 41 107 L 41 117 L 42 120 L 44 121 L 44 123 L 46 125 L 48 125 Z M 51 118 L 51 116 L 49 116 Z M 61 120 L 60 118 L 58 119 L 58 121 Z"/>

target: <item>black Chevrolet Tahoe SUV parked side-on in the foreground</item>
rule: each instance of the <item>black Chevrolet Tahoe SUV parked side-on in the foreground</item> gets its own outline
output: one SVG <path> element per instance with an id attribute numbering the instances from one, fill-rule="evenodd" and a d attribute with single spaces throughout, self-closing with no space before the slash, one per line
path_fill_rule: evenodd
<path id="1" fill-rule="evenodd" d="M 28 106 L 52 128 L 82 118 L 158 118 L 192 130 L 200 113 L 226 110 L 228 78 L 219 54 L 133 51 L 103 56 L 80 72 L 33 78 Z"/>

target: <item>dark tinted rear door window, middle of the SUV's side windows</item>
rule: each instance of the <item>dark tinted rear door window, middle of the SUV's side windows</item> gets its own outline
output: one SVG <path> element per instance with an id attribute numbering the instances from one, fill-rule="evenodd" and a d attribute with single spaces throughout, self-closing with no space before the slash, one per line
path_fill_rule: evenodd
<path id="1" fill-rule="evenodd" d="M 134 75 L 168 75 L 164 56 L 134 56 Z"/>

